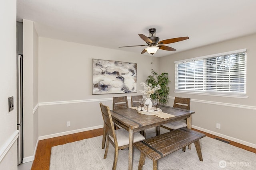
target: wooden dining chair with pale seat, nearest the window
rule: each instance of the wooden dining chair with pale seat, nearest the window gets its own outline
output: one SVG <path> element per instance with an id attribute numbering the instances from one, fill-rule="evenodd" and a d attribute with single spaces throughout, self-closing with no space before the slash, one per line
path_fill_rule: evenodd
<path id="1" fill-rule="evenodd" d="M 190 98 L 175 97 L 173 107 L 189 110 L 190 109 Z M 171 131 L 171 130 L 180 129 L 182 127 L 187 127 L 187 124 L 184 123 L 183 121 L 174 121 L 174 122 L 170 122 L 170 123 L 161 125 L 160 127 L 163 127 L 164 129 L 168 129 Z"/>

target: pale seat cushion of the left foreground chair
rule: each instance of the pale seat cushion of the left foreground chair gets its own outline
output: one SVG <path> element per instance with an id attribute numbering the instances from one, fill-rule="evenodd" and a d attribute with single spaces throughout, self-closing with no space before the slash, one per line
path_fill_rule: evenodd
<path id="1" fill-rule="evenodd" d="M 116 140 L 118 143 L 118 147 L 124 146 L 124 145 L 129 145 L 129 131 L 126 131 L 124 128 L 122 129 L 117 129 L 115 130 L 116 133 Z M 114 138 L 112 138 L 109 135 L 111 141 L 114 142 Z M 134 139 L 133 142 L 139 142 L 139 141 L 143 141 L 145 139 L 145 137 L 143 135 L 141 135 L 138 132 L 134 133 Z"/>

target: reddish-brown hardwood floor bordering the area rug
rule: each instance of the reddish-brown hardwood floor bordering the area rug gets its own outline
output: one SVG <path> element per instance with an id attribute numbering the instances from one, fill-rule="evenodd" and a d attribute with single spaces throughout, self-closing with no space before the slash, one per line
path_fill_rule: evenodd
<path id="1" fill-rule="evenodd" d="M 196 129 L 193 129 L 195 131 L 198 131 Z M 211 138 L 216 138 L 217 136 L 215 135 L 211 135 L 209 133 L 205 133 L 202 131 L 199 131 L 201 133 L 206 134 L 206 136 L 211 137 Z M 32 164 L 32 168 L 31 170 L 48 170 L 49 166 L 50 166 L 50 154 L 51 154 L 51 148 L 57 145 L 63 145 L 65 143 L 70 143 L 70 142 L 74 142 L 74 141 L 80 141 L 82 139 L 87 139 L 87 138 L 92 138 L 92 137 L 96 137 L 96 136 L 100 136 L 103 133 L 103 129 L 95 129 L 95 130 L 91 130 L 91 131 L 85 131 L 85 132 L 80 132 L 80 133 L 74 133 L 71 135 L 65 135 L 65 136 L 61 136 L 61 137 L 54 137 L 54 138 L 50 138 L 50 139 L 44 139 L 38 142 L 38 147 L 36 150 L 36 156 L 35 156 L 35 160 Z M 223 139 L 225 141 L 229 141 L 227 139 L 218 137 L 219 139 Z M 245 150 L 249 150 L 251 152 L 256 153 L 256 149 L 252 148 L 252 147 L 247 147 L 245 145 L 233 142 L 233 141 L 229 141 L 230 145 L 234 145 L 236 147 L 240 147 L 242 149 Z M 102 155 L 103 158 L 103 155 Z"/>

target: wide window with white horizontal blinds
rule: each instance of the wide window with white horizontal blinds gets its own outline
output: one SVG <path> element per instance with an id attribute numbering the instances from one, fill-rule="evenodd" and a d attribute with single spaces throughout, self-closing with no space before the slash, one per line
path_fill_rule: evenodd
<path id="1" fill-rule="evenodd" d="M 246 95 L 246 49 L 175 62 L 175 92 Z"/>

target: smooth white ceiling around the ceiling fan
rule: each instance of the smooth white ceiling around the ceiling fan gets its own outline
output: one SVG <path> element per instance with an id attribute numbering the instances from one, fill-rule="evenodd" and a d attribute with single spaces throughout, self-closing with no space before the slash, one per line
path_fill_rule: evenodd
<path id="1" fill-rule="evenodd" d="M 256 33 L 255 17 L 256 0 L 17 0 L 17 20 L 34 21 L 40 37 L 135 53 L 145 47 L 118 47 L 146 45 L 138 33 L 150 28 L 160 41 L 189 37 L 154 57 Z"/>

